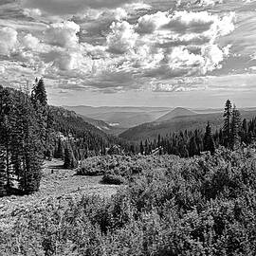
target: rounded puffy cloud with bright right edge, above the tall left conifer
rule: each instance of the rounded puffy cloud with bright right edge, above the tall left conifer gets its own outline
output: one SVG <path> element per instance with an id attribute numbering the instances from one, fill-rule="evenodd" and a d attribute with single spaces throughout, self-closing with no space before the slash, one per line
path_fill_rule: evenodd
<path id="1" fill-rule="evenodd" d="M 80 26 L 74 22 L 55 23 L 45 31 L 45 41 L 53 46 L 74 47 L 78 45 Z"/>

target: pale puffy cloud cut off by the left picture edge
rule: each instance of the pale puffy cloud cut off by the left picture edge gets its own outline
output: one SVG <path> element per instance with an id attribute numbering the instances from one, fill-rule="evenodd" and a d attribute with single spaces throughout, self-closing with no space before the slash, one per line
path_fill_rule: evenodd
<path id="1" fill-rule="evenodd" d="M 10 27 L 0 27 L 0 55 L 9 55 L 17 44 L 17 31 Z"/>

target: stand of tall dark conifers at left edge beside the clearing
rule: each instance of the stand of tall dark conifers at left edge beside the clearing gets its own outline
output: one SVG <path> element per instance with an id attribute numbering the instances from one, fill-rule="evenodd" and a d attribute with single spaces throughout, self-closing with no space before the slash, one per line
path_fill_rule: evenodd
<path id="1" fill-rule="evenodd" d="M 47 98 L 43 80 L 31 95 L 0 86 L 0 196 L 39 189 L 46 147 Z"/>

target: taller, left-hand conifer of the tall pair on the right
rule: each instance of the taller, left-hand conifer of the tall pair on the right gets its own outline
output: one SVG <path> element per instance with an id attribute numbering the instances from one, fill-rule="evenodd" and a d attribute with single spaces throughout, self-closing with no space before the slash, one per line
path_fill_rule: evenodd
<path id="1" fill-rule="evenodd" d="M 232 116 L 232 104 L 228 100 L 226 101 L 225 111 L 223 117 L 224 119 L 224 126 L 223 126 L 223 136 L 224 136 L 224 146 L 230 147 L 231 145 L 231 116 Z"/>

